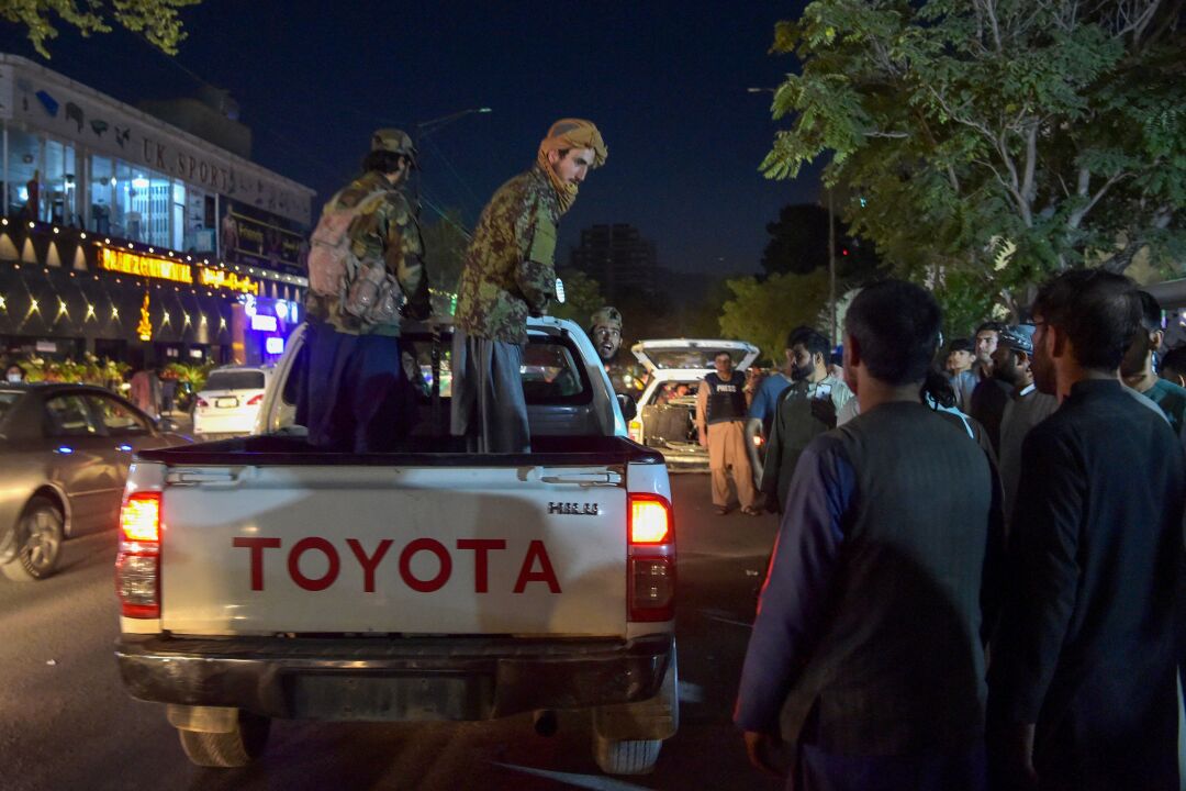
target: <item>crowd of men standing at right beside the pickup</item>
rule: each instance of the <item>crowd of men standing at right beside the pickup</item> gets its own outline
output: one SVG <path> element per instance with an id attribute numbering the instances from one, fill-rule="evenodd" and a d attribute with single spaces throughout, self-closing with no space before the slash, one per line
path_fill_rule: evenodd
<path id="1" fill-rule="evenodd" d="M 1031 317 L 942 356 L 933 298 L 880 282 L 843 382 L 798 330 L 755 395 L 783 521 L 734 717 L 788 787 L 1180 787 L 1181 356 L 1158 376 L 1160 307 L 1107 272 Z"/>

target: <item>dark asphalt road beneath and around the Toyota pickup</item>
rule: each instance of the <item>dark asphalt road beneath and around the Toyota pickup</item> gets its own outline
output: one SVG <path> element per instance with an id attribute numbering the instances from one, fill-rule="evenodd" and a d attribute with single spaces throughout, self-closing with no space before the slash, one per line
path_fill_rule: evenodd
<path id="1" fill-rule="evenodd" d="M 753 586 L 773 517 L 716 516 L 708 478 L 672 478 L 678 542 L 680 732 L 655 772 L 608 778 L 587 717 L 561 714 L 554 736 L 529 715 L 482 723 L 279 721 L 244 770 L 192 766 L 164 707 L 120 683 L 113 585 L 115 534 L 66 544 L 62 572 L 0 579 L 0 787 L 72 789 L 777 789 L 746 761 L 731 710 Z"/>

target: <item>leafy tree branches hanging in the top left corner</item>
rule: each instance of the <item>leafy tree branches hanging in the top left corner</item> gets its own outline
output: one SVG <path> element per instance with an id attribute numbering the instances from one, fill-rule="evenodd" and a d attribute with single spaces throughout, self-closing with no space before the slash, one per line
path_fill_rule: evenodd
<path id="1" fill-rule="evenodd" d="M 83 34 L 110 33 L 115 21 L 134 33 L 142 33 L 151 44 L 168 55 L 177 55 L 177 45 L 185 40 L 180 8 L 196 6 L 202 0 L 18 0 L 0 4 L 0 17 L 28 28 L 28 40 L 37 52 L 50 57 L 45 43 L 58 37 L 51 17 L 57 15 Z M 79 5 L 82 6 L 79 8 Z"/>

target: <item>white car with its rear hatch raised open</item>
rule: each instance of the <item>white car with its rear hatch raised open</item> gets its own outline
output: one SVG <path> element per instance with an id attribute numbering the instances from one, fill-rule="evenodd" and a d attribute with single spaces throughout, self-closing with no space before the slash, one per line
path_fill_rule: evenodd
<path id="1" fill-rule="evenodd" d="M 713 358 L 722 351 L 744 381 L 758 347 L 745 340 L 670 338 L 640 340 L 630 351 L 650 375 L 630 421 L 630 439 L 658 449 L 672 472 L 707 471 L 708 451 L 696 435 L 696 390 L 716 370 Z"/>

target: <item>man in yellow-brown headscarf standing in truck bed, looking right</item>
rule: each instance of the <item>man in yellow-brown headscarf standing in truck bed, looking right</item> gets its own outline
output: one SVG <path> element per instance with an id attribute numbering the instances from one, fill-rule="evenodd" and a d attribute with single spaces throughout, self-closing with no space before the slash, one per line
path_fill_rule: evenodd
<path id="1" fill-rule="evenodd" d="M 606 155 L 591 121 L 561 119 L 535 165 L 498 187 L 482 212 L 458 287 L 452 362 L 452 432 L 472 451 L 530 449 L 519 377 L 527 318 L 555 298 L 560 217 Z"/>

